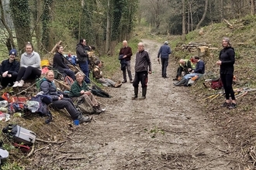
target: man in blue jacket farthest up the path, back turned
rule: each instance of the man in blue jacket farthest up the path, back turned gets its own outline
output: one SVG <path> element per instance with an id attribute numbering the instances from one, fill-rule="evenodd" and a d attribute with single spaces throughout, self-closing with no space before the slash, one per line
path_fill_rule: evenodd
<path id="1" fill-rule="evenodd" d="M 162 63 L 162 77 L 168 78 L 166 75 L 166 70 L 168 66 L 169 55 L 171 54 L 171 48 L 168 46 L 168 41 L 164 42 L 164 45 L 160 47 L 157 55 L 157 61 L 160 63 L 159 57 L 161 56 Z"/>

